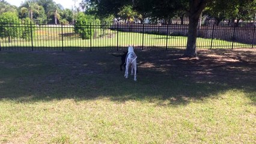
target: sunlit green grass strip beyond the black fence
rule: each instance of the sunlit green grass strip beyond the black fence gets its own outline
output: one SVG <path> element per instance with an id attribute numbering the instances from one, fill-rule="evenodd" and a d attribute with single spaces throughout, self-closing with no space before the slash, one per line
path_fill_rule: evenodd
<path id="1" fill-rule="evenodd" d="M 34 32 L 33 46 L 36 47 L 126 47 L 129 44 L 141 47 L 166 47 L 166 35 L 156 34 L 141 34 L 136 32 L 117 32 L 106 31 L 105 37 L 100 37 L 102 31 L 95 30 L 96 38 L 92 40 L 82 40 L 79 35 L 73 32 L 71 28 L 63 29 L 63 43 L 61 37 L 61 28 L 41 28 Z M 117 34 L 118 33 L 118 34 Z M 118 35 L 118 36 L 117 36 Z M 118 37 L 118 38 L 117 38 Z M 143 41 L 142 41 L 143 37 Z M 118 42 L 117 42 L 118 39 Z M 32 47 L 32 41 L 14 38 L 12 43 L 8 43 L 8 38 L 4 38 L 1 43 L 2 47 Z M 4 43 L 5 42 L 5 43 Z M 183 36 L 168 36 L 168 47 L 185 48 L 187 37 Z M 232 41 L 197 38 L 197 47 L 200 49 L 223 48 L 231 49 Z M 233 43 L 233 48 L 249 47 L 251 44 Z"/>

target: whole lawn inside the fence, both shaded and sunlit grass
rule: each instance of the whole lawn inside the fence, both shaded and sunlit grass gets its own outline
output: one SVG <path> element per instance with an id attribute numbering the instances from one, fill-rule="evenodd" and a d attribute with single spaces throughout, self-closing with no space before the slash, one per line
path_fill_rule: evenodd
<path id="1" fill-rule="evenodd" d="M 1 52 L 0 143 L 256 143 L 254 49 L 135 52 Z"/>

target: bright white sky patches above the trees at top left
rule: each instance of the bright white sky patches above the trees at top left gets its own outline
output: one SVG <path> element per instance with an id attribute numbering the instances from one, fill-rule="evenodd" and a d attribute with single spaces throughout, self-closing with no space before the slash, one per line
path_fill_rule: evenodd
<path id="1" fill-rule="evenodd" d="M 20 6 L 20 4 L 22 4 L 22 2 L 24 2 L 25 0 L 5 0 L 7 1 L 9 4 L 11 5 L 16 5 L 17 7 Z M 72 5 L 74 6 L 74 1 L 73 0 L 53 0 L 55 1 L 57 4 L 61 4 L 64 8 L 72 8 Z M 81 2 L 82 0 L 76 0 L 76 6 L 78 6 L 79 2 Z"/>

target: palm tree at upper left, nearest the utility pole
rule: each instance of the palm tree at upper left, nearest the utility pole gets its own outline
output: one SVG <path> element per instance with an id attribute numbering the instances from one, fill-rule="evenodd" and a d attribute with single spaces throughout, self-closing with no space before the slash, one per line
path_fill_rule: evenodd
<path id="1" fill-rule="evenodd" d="M 47 15 L 48 16 L 54 15 L 55 25 L 57 25 L 58 24 L 58 20 L 61 19 L 61 15 L 60 15 L 60 14 L 62 14 L 61 7 L 62 6 L 60 4 L 56 4 L 55 2 L 53 4 L 49 4 L 47 6 L 47 10 L 48 10 Z"/>

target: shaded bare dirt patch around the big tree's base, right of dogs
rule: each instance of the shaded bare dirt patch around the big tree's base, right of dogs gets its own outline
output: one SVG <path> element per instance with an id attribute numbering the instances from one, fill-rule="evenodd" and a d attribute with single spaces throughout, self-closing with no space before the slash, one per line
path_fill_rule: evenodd
<path id="1" fill-rule="evenodd" d="M 195 82 L 225 82 L 232 85 L 256 82 L 256 49 L 197 52 L 198 58 L 183 58 L 184 50 L 177 49 L 141 52 L 144 57 L 139 58 L 138 67 L 156 68 L 174 77 L 190 77 Z"/>

